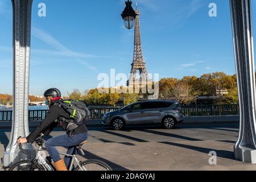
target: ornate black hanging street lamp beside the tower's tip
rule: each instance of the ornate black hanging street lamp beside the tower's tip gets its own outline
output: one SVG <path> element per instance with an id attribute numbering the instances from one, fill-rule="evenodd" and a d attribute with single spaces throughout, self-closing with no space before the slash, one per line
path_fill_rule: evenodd
<path id="1" fill-rule="evenodd" d="M 136 18 L 137 14 L 135 13 L 133 7 L 131 6 L 133 2 L 128 0 L 125 2 L 126 7 L 121 14 L 123 18 L 123 22 L 125 23 L 125 27 L 127 29 L 131 29 L 134 26 L 134 19 Z"/>

